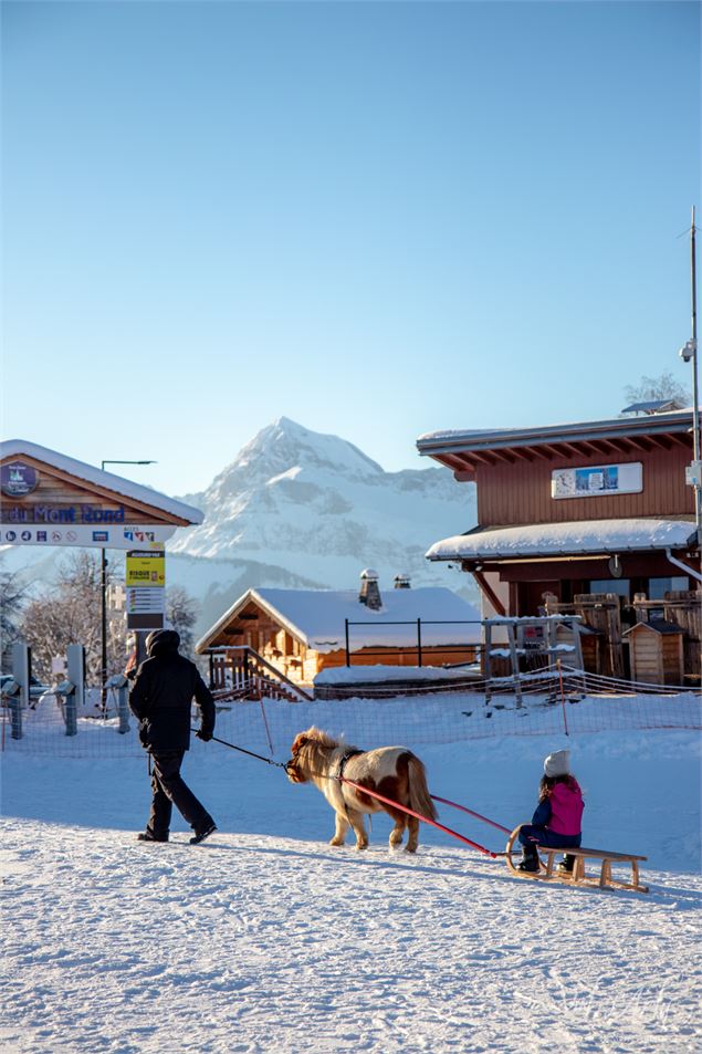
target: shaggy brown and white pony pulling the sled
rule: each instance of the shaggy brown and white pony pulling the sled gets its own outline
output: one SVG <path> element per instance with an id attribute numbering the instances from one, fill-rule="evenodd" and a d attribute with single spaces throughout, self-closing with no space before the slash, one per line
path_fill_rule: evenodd
<path id="1" fill-rule="evenodd" d="M 332 739 L 317 728 L 307 729 L 295 738 L 292 758 L 286 765 L 293 783 L 317 786 L 336 813 L 336 832 L 329 845 L 344 845 L 349 826 L 356 835 L 356 848 L 368 846 L 364 813 L 386 812 L 395 821 L 390 832 L 390 847 L 402 844 L 405 827 L 408 828 L 407 852 L 416 853 L 419 842 L 419 821 L 399 808 L 384 805 L 377 799 L 339 781 L 353 780 L 369 791 L 377 791 L 400 805 L 413 808 L 429 820 L 436 820 L 437 811 L 427 786 L 422 762 L 406 747 L 380 747 L 377 750 L 359 751 L 344 740 Z"/>

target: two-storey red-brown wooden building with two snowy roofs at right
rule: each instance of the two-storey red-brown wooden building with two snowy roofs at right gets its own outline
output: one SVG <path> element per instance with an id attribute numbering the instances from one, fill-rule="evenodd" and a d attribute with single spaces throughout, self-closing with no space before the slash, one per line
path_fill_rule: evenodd
<path id="1" fill-rule="evenodd" d="M 692 427 L 691 409 L 651 405 L 614 420 L 422 436 L 419 452 L 478 495 L 478 525 L 427 557 L 473 575 L 485 617 L 583 615 L 603 643 L 588 654 L 615 676 L 629 672 L 622 634 L 640 619 L 635 598 L 658 607 L 684 630 L 684 672 L 699 682 Z"/>

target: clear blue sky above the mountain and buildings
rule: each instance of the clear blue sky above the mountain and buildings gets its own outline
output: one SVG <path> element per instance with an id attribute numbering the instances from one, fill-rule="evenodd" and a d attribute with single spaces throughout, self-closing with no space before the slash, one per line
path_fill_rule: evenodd
<path id="1" fill-rule="evenodd" d="M 690 385 L 695 2 L 3 2 L 2 48 L 6 438 L 179 494 L 281 415 L 423 468 Z"/>

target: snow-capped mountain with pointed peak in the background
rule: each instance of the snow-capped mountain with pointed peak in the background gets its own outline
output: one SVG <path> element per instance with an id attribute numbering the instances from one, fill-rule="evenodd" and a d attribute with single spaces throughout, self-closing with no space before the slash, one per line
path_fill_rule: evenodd
<path id="1" fill-rule="evenodd" d="M 355 588 L 374 567 L 465 596 L 467 576 L 429 564 L 429 545 L 475 523 L 475 494 L 444 469 L 386 472 L 353 443 L 286 417 L 262 429 L 201 493 L 205 522 L 168 543 L 168 578 L 209 625 L 249 587 Z"/>

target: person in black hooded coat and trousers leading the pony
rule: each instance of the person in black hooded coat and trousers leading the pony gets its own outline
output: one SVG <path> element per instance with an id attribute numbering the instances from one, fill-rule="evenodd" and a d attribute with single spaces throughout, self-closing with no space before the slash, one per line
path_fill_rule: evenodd
<path id="1" fill-rule="evenodd" d="M 139 721 L 142 745 L 151 755 L 151 814 L 142 842 L 168 842 L 175 805 L 192 827 L 191 845 L 217 831 L 214 821 L 180 775 L 190 747 L 190 708 L 195 697 L 200 711 L 196 735 L 207 742 L 214 731 L 214 700 L 195 662 L 178 651 L 175 629 L 157 629 L 146 638 L 148 658 L 142 662 L 129 692 L 129 708 Z"/>

